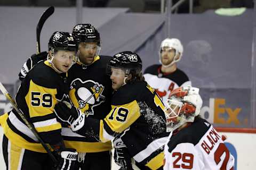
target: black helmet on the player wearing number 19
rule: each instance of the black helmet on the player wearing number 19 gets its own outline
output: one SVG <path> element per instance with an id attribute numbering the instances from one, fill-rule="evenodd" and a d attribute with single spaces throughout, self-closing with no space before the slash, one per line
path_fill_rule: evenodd
<path id="1" fill-rule="evenodd" d="M 111 75 L 111 67 L 122 69 L 125 75 L 138 74 L 142 69 L 142 61 L 138 54 L 126 51 L 115 54 L 108 63 L 107 74 Z"/>

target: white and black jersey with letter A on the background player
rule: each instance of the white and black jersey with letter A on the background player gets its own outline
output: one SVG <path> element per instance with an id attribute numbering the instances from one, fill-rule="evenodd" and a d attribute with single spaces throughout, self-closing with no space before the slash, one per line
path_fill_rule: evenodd
<path id="1" fill-rule="evenodd" d="M 155 64 L 147 67 L 144 77 L 149 86 L 156 90 L 158 96 L 165 104 L 167 97 L 173 89 L 181 86 L 191 86 L 191 81 L 180 69 L 172 73 L 162 73 L 161 66 L 160 64 Z"/>

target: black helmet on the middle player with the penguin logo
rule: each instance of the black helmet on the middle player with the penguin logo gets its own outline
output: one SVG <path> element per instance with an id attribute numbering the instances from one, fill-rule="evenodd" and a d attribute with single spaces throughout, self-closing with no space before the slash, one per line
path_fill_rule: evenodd
<path id="1" fill-rule="evenodd" d="M 77 43 L 97 43 L 100 47 L 100 33 L 89 23 L 76 24 L 73 32 Z"/>

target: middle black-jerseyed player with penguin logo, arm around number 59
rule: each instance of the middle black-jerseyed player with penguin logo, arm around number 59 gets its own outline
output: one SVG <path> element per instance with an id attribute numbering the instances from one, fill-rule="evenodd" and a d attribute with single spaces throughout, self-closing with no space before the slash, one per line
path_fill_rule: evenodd
<path id="1" fill-rule="evenodd" d="M 75 25 L 73 36 L 78 43 L 78 55 L 68 71 L 69 97 L 83 114 L 100 120 L 111 110 L 110 97 L 113 90 L 109 75 L 106 74 L 106 66 L 111 57 L 99 55 L 100 34 L 93 25 Z M 19 78 L 22 80 L 26 77 L 31 67 L 38 61 L 45 60 L 46 56 L 45 52 L 31 56 L 23 65 Z M 61 134 L 65 145 L 78 152 L 75 169 L 110 170 L 110 141 L 101 143 L 94 138 L 78 135 L 65 126 L 62 127 Z"/>

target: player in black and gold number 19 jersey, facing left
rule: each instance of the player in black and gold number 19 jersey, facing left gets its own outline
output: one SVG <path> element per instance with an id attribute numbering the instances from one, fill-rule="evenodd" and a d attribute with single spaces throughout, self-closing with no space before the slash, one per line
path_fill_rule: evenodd
<path id="1" fill-rule="evenodd" d="M 118 165 L 131 163 L 131 159 L 123 162 L 122 156 L 125 156 L 131 157 L 140 169 L 162 169 L 168 136 L 164 105 L 156 91 L 144 81 L 141 68 L 138 54 L 121 52 L 111 58 L 107 70 L 115 91 L 112 109 L 105 118 L 86 117 L 65 103 L 55 106 L 55 113 L 78 134 L 92 134 L 101 142 L 114 140 Z M 126 151 L 119 153 L 119 149 Z"/>

